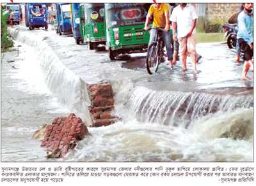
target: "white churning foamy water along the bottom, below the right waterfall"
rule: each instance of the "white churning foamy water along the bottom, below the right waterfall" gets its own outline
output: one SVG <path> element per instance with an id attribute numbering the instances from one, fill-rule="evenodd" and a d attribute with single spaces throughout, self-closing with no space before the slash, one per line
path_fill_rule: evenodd
<path id="1" fill-rule="evenodd" d="M 218 138 L 223 131 L 211 131 L 212 128 L 223 127 L 223 122 L 227 122 L 227 117 L 243 115 L 247 111 L 252 112 L 252 110 L 241 110 L 238 113 L 225 113 L 225 117 L 216 113 L 211 118 L 218 118 L 218 122 L 216 120 L 200 120 L 195 122 L 194 127 L 188 129 L 147 122 L 141 123 L 136 119 L 125 123 L 118 122 L 108 127 L 89 129 L 92 136 L 79 142 L 76 151 L 70 152 L 66 160 L 103 162 L 252 161 L 252 134 L 250 140 L 232 140 L 231 138 Z M 252 130 L 252 125 L 248 130 Z"/>

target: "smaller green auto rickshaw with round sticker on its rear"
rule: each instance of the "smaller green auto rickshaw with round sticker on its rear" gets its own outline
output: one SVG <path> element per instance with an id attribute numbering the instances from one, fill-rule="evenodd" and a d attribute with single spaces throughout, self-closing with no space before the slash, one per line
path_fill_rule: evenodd
<path id="1" fill-rule="evenodd" d="M 106 44 L 103 3 L 80 5 L 80 29 L 83 41 L 90 50 Z"/>

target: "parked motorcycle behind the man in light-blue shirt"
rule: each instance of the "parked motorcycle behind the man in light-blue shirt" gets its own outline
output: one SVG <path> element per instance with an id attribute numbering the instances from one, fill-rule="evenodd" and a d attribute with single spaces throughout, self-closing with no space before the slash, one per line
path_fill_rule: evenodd
<path id="1" fill-rule="evenodd" d="M 224 24 L 222 27 L 225 31 L 224 39 L 227 38 L 228 48 L 236 48 L 237 25 Z"/>

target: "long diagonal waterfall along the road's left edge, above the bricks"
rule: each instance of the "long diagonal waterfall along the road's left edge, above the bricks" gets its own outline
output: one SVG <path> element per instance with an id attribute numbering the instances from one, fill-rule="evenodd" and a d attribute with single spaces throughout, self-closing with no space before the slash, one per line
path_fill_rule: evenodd
<path id="1" fill-rule="evenodd" d="M 13 33 L 14 38 L 31 47 L 31 51 L 35 51 L 44 74 L 44 82 L 53 94 L 58 95 L 58 103 L 68 106 L 72 112 L 79 114 L 86 125 L 90 125 L 92 120 L 88 111 L 90 99 L 86 83 L 62 64 L 52 48 L 44 42 L 44 38 L 28 32 L 19 35 L 18 33 Z"/>

